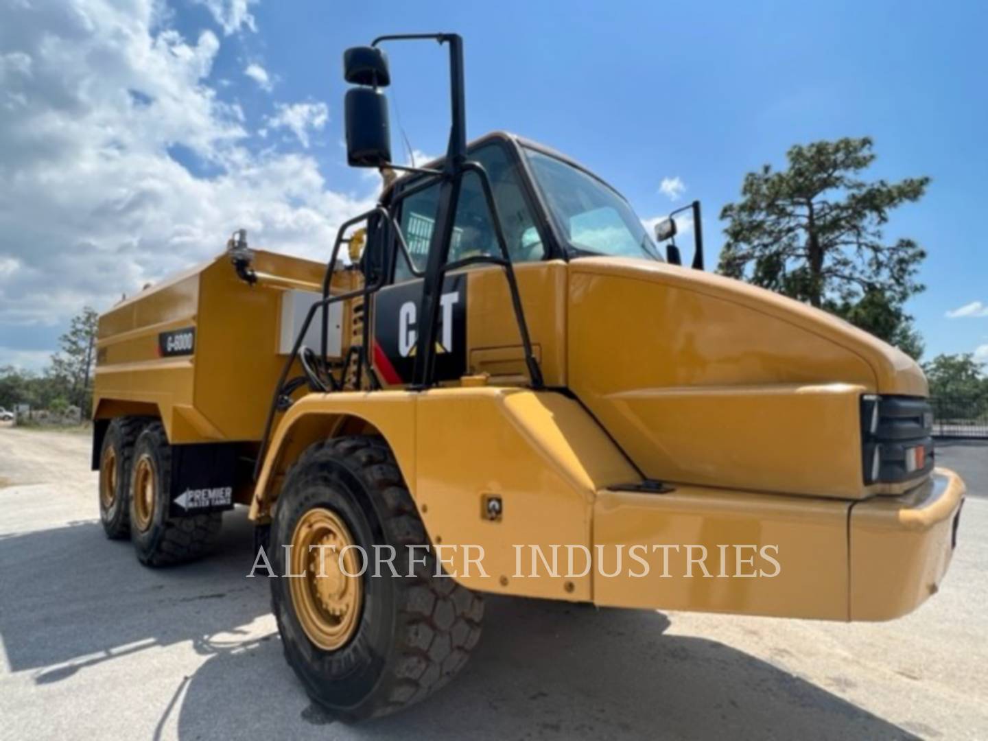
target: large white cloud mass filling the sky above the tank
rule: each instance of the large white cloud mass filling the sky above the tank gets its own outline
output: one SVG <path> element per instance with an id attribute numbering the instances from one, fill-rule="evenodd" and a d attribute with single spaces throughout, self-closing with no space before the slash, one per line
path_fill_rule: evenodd
<path id="1" fill-rule="evenodd" d="M 331 190 L 307 154 L 246 148 L 242 112 L 208 82 L 211 32 L 184 38 L 157 0 L 45 7 L 0 4 L 3 358 L 25 351 L 15 325 L 105 309 L 238 227 L 253 246 L 325 257 L 337 225 L 372 206 Z M 208 177 L 170 156 L 179 145 Z"/>

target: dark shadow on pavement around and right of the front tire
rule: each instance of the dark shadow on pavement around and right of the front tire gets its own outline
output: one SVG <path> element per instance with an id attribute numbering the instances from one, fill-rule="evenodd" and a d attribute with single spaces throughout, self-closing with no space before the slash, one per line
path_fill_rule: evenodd
<path id="1" fill-rule="evenodd" d="M 917 738 L 722 643 L 664 635 L 669 619 L 660 613 L 506 598 L 487 605 L 467 669 L 402 713 L 336 722 L 304 698 L 273 635 L 206 661 L 175 710 L 179 736 L 234 727 L 247 706 L 293 738 Z M 259 667 L 275 687 L 245 682 Z"/>

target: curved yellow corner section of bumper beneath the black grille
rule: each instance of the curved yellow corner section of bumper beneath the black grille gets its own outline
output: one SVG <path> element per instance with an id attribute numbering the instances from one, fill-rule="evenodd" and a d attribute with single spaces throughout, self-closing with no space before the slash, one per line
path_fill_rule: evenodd
<path id="1" fill-rule="evenodd" d="M 965 491 L 960 476 L 936 468 L 902 496 L 852 506 L 852 620 L 900 617 L 937 593 L 956 544 Z"/>

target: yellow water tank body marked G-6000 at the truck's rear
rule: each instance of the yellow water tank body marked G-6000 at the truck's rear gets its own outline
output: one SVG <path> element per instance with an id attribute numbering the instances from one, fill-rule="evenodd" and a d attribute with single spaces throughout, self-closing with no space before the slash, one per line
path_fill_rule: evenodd
<path id="1" fill-rule="evenodd" d="M 94 419 L 153 414 L 173 444 L 260 440 L 285 362 L 277 354 L 281 294 L 319 290 L 324 266 L 262 251 L 254 265 L 261 280 L 248 286 L 220 255 L 103 314 Z M 341 273 L 334 288 L 350 280 Z M 195 354 L 159 357 L 159 333 L 186 327 L 196 329 Z"/>

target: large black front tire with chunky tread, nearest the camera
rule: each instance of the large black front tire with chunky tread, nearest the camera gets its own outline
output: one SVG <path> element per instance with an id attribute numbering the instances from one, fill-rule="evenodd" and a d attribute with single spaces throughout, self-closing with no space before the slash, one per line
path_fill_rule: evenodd
<path id="1" fill-rule="evenodd" d="M 356 592 L 361 602 L 345 642 L 332 650 L 312 639 L 311 618 L 300 619 L 305 607 L 295 604 L 298 585 L 319 580 L 282 577 L 298 573 L 286 571 L 283 546 L 293 544 L 299 522 L 304 529 L 313 514 L 336 523 L 344 539 L 361 546 L 371 560 L 363 576 L 353 577 L 360 584 L 338 590 Z M 375 544 L 395 548 L 394 566 L 401 576 L 393 577 L 386 565 L 380 577 L 371 576 Z M 450 577 L 437 577 L 431 550 L 423 566 L 425 548 L 416 549 L 420 562 L 408 577 L 409 545 L 429 546 L 429 537 L 381 439 L 317 443 L 288 472 L 268 551 L 279 575 L 271 581 L 272 609 L 288 664 L 309 697 L 344 721 L 385 715 L 423 700 L 463 667 L 480 637 L 481 597 Z M 335 614 L 332 606 L 328 611 Z M 345 618 L 341 623 L 349 624 Z"/>

